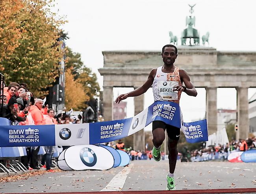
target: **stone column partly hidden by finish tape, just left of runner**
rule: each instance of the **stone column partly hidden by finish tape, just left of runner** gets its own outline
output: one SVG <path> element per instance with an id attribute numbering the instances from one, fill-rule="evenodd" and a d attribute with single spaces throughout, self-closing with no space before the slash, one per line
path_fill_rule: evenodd
<path id="1" fill-rule="evenodd" d="M 134 88 L 135 89 L 135 88 Z M 134 115 L 144 110 L 144 94 L 134 97 Z M 134 135 L 134 150 L 145 151 L 145 132 L 144 129 Z"/>

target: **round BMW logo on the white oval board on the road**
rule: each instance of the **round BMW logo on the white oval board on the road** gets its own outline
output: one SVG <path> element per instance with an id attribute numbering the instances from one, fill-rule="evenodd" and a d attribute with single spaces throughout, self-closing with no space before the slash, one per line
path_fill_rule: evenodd
<path id="1" fill-rule="evenodd" d="M 89 147 L 84 147 L 80 150 L 80 158 L 82 162 L 88 167 L 93 167 L 97 161 L 96 154 Z"/>

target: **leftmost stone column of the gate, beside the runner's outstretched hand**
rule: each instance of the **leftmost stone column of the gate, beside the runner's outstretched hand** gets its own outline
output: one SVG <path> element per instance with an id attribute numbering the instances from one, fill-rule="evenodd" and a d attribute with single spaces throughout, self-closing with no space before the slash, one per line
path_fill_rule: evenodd
<path id="1" fill-rule="evenodd" d="M 113 120 L 113 87 L 103 86 L 104 121 Z"/>

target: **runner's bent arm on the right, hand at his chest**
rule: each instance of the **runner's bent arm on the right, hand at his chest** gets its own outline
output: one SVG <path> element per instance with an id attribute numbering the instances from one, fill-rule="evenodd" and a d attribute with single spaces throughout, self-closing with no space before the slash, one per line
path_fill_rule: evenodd
<path id="1" fill-rule="evenodd" d="M 177 91 L 185 92 L 189 96 L 197 96 L 197 90 L 195 89 L 195 86 L 190 81 L 189 75 L 184 69 L 180 69 L 180 78 L 184 82 L 186 89 L 184 87 L 178 86 Z"/>

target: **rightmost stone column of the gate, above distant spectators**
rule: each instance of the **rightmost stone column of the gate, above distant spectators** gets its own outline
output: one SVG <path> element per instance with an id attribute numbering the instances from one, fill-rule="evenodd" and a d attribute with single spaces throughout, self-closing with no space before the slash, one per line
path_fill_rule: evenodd
<path id="1" fill-rule="evenodd" d="M 238 87 L 237 91 L 237 123 L 236 139 L 245 139 L 249 136 L 248 88 Z"/>

